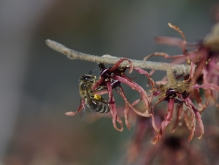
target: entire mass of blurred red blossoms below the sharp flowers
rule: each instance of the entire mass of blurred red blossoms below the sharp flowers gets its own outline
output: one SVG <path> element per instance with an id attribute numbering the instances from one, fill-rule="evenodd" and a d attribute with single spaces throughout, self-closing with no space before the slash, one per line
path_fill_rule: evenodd
<path id="1" fill-rule="evenodd" d="M 156 109 L 159 111 L 159 109 Z M 163 112 L 159 111 L 155 116 L 157 122 L 163 118 Z M 206 156 L 203 155 L 194 144 L 185 140 L 187 128 L 185 125 L 175 134 L 165 134 L 156 145 L 150 143 L 153 136 L 151 118 L 139 117 L 133 138 L 127 145 L 124 164 L 131 165 L 207 165 Z"/>

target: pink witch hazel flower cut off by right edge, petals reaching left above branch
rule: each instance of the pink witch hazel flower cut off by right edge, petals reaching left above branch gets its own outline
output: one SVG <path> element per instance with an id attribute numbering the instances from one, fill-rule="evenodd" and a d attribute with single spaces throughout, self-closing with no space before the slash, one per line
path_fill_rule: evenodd
<path id="1" fill-rule="evenodd" d="M 219 98 L 219 23 L 213 27 L 210 34 L 198 43 L 188 43 L 184 33 L 177 26 L 170 23 L 168 25 L 179 32 L 182 39 L 161 36 L 157 37 L 156 41 L 161 44 L 178 46 L 182 48 L 183 54 L 170 56 L 167 53 L 156 52 L 145 59 L 151 56 L 162 56 L 173 59 L 174 64 L 189 64 L 191 66 L 191 84 L 196 85 L 190 93 L 191 97 L 197 101 L 199 111 L 205 110 L 210 102 L 219 109 L 219 104 L 217 103 Z M 187 47 L 195 48 L 195 50 L 187 51 Z M 201 87 L 198 88 L 198 84 L 200 83 L 204 87 L 205 103 L 202 103 L 202 97 L 199 92 Z"/>

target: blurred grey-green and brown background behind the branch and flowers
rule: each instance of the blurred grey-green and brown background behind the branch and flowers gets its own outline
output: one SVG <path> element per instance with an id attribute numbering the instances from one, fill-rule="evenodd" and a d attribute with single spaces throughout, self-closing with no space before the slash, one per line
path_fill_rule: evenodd
<path id="1" fill-rule="evenodd" d="M 88 54 L 139 60 L 157 51 L 179 54 L 154 37 L 180 37 L 171 22 L 188 42 L 202 39 L 215 24 L 217 2 L 0 1 L 0 164 L 120 164 L 132 138 L 134 127 L 120 133 L 110 118 L 65 116 L 79 105 L 79 77 L 97 65 L 67 59 L 46 39 Z"/>

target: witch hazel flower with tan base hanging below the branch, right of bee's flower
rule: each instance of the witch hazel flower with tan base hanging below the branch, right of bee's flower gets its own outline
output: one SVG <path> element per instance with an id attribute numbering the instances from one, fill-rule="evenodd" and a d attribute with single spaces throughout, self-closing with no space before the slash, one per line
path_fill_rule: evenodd
<path id="1" fill-rule="evenodd" d="M 154 108 L 157 104 L 163 101 L 167 101 L 167 113 L 160 125 L 160 128 L 155 129 L 157 135 L 154 137 L 152 143 L 155 144 L 161 139 L 166 127 L 172 122 L 175 104 L 177 116 L 172 132 L 175 131 L 176 126 L 178 125 L 179 120 L 181 118 L 181 115 L 183 114 L 184 121 L 190 129 L 188 141 L 191 141 L 194 136 L 194 132 L 196 129 L 196 121 L 198 121 L 198 125 L 200 128 L 200 139 L 204 134 L 204 126 L 200 112 L 194 106 L 192 100 L 189 97 L 189 94 L 192 90 L 191 83 L 188 80 L 177 81 L 171 69 L 167 70 L 167 78 L 167 83 L 161 85 L 158 89 L 158 91 L 160 92 L 158 95 L 158 101 L 151 107 L 151 111 L 154 113 Z M 186 107 L 186 109 L 184 109 L 184 106 Z"/>

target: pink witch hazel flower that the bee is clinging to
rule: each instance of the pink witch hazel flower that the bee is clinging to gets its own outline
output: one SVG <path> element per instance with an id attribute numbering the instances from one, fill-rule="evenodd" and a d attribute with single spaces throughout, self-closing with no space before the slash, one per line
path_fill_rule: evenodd
<path id="1" fill-rule="evenodd" d="M 123 61 L 128 61 L 129 66 L 120 66 Z M 150 85 L 154 87 L 155 83 L 153 79 L 150 78 L 148 72 L 141 68 L 135 68 L 132 66 L 132 62 L 127 58 L 120 59 L 117 63 L 115 63 L 112 67 L 105 67 L 103 63 L 99 64 L 100 68 L 100 78 L 97 82 L 92 86 L 92 90 L 99 95 L 108 94 L 108 105 L 110 107 L 110 112 L 112 115 L 113 126 L 118 131 L 123 131 L 123 124 L 120 117 L 117 115 L 116 102 L 113 95 L 113 90 L 115 90 L 124 100 L 125 108 L 124 108 L 124 117 L 125 124 L 128 129 L 130 129 L 130 124 L 128 121 L 129 110 L 132 109 L 136 114 L 144 117 L 152 117 L 153 115 L 150 113 L 150 98 L 146 91 L 136 82 L 131 80 L 129 77 L 125 75 L 126 69 L 129 69 L 129 73 L 133 70 L 137 71 L 139 74 L 145 75 L 149 81 Z M 121 86 L 121 84 L 125 84 L 129 86 L 131 89 L 137 91 L 140 95 L 140 99 L 135 100 L 133 103 L 130 103 L 125 95 L 125 92 Z M 104 87 L 104 90 L 97 90 L 99 87 Z M 140 112 L 134 108 L 140 101 L 143 102 L 145 111 Z M 117 126 L 117 123 L 120 125 L 120 128 Z"/>

